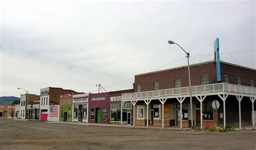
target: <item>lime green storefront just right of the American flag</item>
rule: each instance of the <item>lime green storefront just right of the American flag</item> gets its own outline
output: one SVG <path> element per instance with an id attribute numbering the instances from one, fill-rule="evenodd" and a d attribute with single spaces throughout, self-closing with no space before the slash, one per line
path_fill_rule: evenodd
<path id="1" fill-rule="evenodd" d="M 72 105 L 59 106 L 59 121 L 72 122 Z"/>

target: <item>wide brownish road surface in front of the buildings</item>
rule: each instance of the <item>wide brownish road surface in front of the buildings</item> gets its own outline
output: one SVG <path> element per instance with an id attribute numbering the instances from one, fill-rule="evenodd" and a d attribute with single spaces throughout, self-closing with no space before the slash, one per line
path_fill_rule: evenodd
<path id="1" fill-rule="evenodd" d="M 256 131 L 188 132 L 0 119 L 0 149 L 256 149 Z"/>

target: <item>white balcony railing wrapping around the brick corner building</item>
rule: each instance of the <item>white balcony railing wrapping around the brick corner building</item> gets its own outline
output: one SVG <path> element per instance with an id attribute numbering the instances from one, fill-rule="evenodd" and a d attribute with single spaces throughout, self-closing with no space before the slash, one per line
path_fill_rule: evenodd
<path id="1" fill-rule="evenodd" d="M 228 91 L 236 92 L 243 94 L 256 94 L 256 88 L 246 87 L 242 85 L 228 84 L 228 83 L 215 83 L 215 84 L 206 84 L 192 86 L 192 94 L 208 93 L 208 92 L 217 92 L 217 91 Z M 163 96 L 179 96 L 190 94 L 189 87 L 173 88 L 173 89 L 164 89 L 164 90 L 154 90 L 154 91 L 143 91 L 143 92 L 133 92 L 122 94 L 122 99 L 140 99 L 140 98 L 153 98 L 153 97 L 163 97 Z"/>

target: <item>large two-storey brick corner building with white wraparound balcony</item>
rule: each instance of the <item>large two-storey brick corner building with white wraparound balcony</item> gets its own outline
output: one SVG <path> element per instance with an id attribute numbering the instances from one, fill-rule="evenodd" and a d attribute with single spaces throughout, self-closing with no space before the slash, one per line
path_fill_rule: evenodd
<path id="1" fill-rule="evenodd" d="M 190 65 L 193 124 L 211 127 L 253 125 L 256 70 L 220 61 Z M 218 77 L 221 81 L 218 81 Z M 191 126 L 187 66 L 135 75 L 122 102 L 135 103 L 135 125 Z M 217 100 L 219 109 L 213 109 Z M 239 111 L 240 110 L 240 111 Z M 240 116 L 240 117 L 239 117 Z"/>

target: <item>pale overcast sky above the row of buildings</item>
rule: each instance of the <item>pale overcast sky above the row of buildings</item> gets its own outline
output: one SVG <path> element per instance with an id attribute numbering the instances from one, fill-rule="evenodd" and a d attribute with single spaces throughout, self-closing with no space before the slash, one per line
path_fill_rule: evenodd
<path id="1" fill-rule="evenodd" d="M 191 55 L 191 63 L 220 53 L 256 49 L 255 2 L 1 1 L 0 96 L 60 87 L 79 92 L 131 89 L 134 75 Z M 204 49 L 203 52 L 201 52 Z M 201 52 L 201 53 L 200 53 Z M 255 51 L 220 59 L 256 68 Z M 160 69 L 186 65 L 181 59 Z"/>

